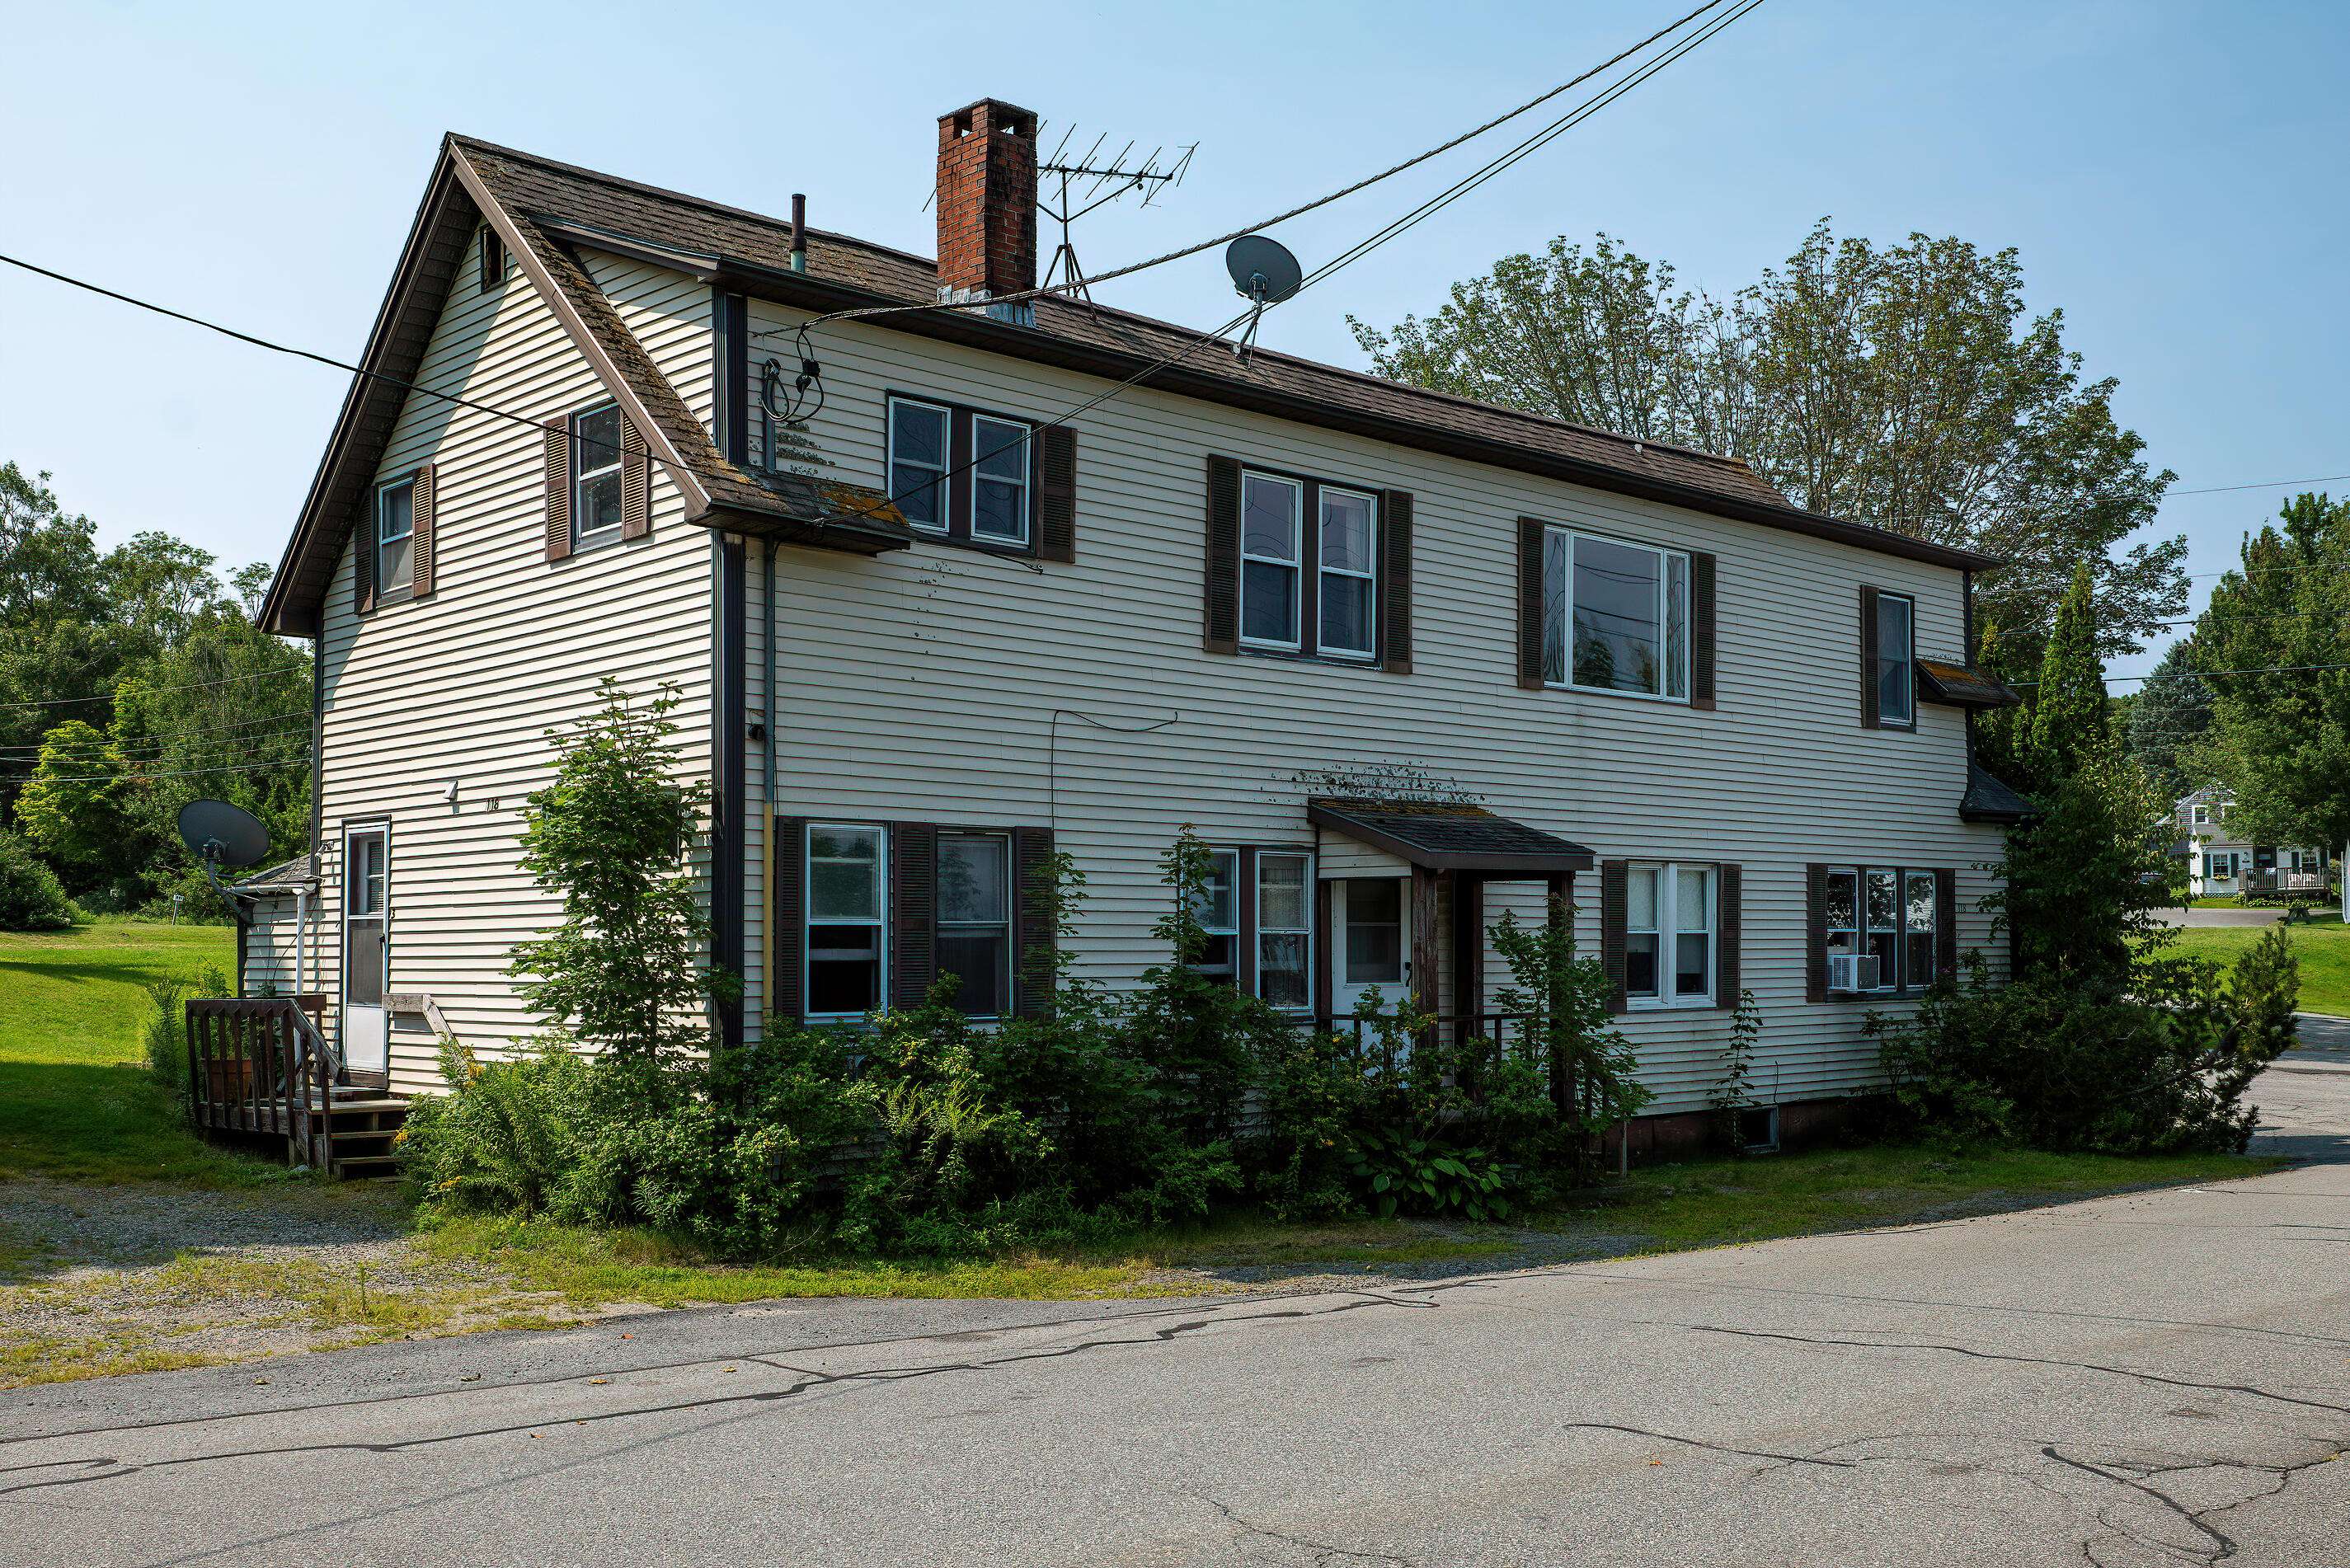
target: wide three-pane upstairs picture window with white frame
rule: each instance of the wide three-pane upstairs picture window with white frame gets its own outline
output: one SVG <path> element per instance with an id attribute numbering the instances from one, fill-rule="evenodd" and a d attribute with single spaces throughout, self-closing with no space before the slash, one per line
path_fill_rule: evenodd
<path id="1" fill-rule="evenodd" d="M 1542 545 L 1542 679 L 1690 701 L 1690 557 L 1551 529 Z"/>

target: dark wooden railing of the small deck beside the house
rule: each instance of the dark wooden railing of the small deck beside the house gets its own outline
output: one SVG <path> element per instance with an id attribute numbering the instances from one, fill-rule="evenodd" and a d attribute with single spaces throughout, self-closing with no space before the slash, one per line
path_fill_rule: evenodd
<path id="1" fill-rule="evenodd" d="M 287 1140 L 287 1161 L 324 1166 L 343 1065 L 317 1027 L 322 997 L 188 1001 L 188 1103 L 200 1128 Z"/>

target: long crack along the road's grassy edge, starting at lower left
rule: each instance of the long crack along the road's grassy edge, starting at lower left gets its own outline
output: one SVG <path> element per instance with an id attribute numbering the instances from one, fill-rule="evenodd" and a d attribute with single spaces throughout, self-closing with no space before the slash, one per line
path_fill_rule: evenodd
<path id="1" fill-rule="evenodd" d="M 1452 1284 L 1441 1286 L 1441 1288 L 1452 1288 Z M 503 1425 L 496 1425 L 496 1427 L 468 1427 L 463 1432 L 435 1432 L 435 1434 L 425 1434 L 425 1436 L 409 1436 L 409 1439 L 392 1439 L 392 1441 L 376 1441 L 376 1443 L 367 1443 L 367 1441 L 313 1441 L 313 1443 L 282 1443 L 282 1446 L 268 1446 L 268 1448 L 226 1448 L 226 1450 L 212 1450 L 212 1453 L 186 1453 L 186 1455 L 172 1455 L 172 1458 L 157 1458 L 157 1460 L 122 1460 L 122 1458 L 115 1458 L 115 1455 L 96 1455 L 96 1458 L 85 1458 L 85 1460 L 35 1460 L 35 1462 L 26 1462 L 26 1465 L 5 1465 L 5 1467 L 0 1467 L 0 1474 L 21 1474 L 21 1472 L 28 1472 L 28 1469 L 61 1469 L 61 1467 L 68 1467 L 68 1465 L 80 1465 L 82 1469 L 101 1469 L 103 1467 L 106 1474 L 66 1474 L 66 1476 L 42 1476 L 42 1479 L 33 1479 L 33 1481 L 16 1481 L 14 1486 L 0 1486 L 0 1495 L 28 1493 L 28 1490 L 45 1490 L 45 1488 L 56 1488 L 56 1486 L 87 1486 L 92 1481 L 120 1481 L 120 1479 L 127 1479 L 127 1476 L 153 1472 L 153 1469 L 179 1469 L 179 1467 L 186 1467 L 186 1465 L 214 1465 L 214 1462 L 226 1462 L 226 1460 L 263 1460 L 263 1458 L 287 1458 L 287 1455 L 310 1455 L 310 1453 L 378 1453 L 378 1455 L 388 1455 L 388 1453 L 409 1453 L 409 1450 L 416 1450 L 416 1448 L 437 1448 L 437 1446 L 444 1446 L 444 1443 L 463 1443 L 463 1441 L 472 1441 L 472 1439 L 512 1436 L 517 1432 L 531 1432 L 531 1429 L 538 1429 L 538 1427 L 559 1427 L 559 1425 L 595 1427 L 595 1425 L 604 1425 L 604 1422 L 613 1422 L 613 1420 L 630 1420 L 630 1418 L 642 1418 L 642 1415 L 682 1415 L 682 1413 L 714 1410 L 714 1408 L 726 1408 L 726 1406 L 780 1403 L 785 1399 L 797 1399 L 799 1394 L 806 1394 L 811 1389 L 834 1387 L 834 1385 L 888 1385 L 888 1382 L 912 1382 L 916 1378 L 935 1378 L 935 1375 L 942 1375 L 942 1373 L 987 1373 L 987 1371 L 999 1371 L 999 1368 L 1006 1368 L 1006 1366 L 1020 1366 L 1020 1363 L 1027 1363 L 1027 1361 L 1060 1361 L 1060 1359 L 1079 1356 L 1079 1354 L 1086 1354 L 1086 1352 L 1093 1352 L 1093 1349 L 1126 1349 L 1126 1347 L 1137 1347 L 1137 1345 L 1166 1345 L 1166 1342 L 1177 1340 L 1177 1338 L 1182 1338 L 1187 1333 L 1198 1333 L 1201 1328 L 1215 1328 L 1215 1326 L 1227 1326 L 1227 1324 L 1269 1324 L 1269 1321 L 1290 1321 L 1290 1319 L 1323 1319 L 1323 1316 L 1342 1316 L 1347 1312 L 1363 1312 L 1363 1309 L 1370 1309 L 1370 1307 L 1403 1307 L 1403 1309 L 1410 1309 L 1410 1312 L 1431 1312 L 1431 1309 L 1436 1309 L 1436 1302 L 1412 1302 L 1412 1300 L 1401 1300 L 1396 1295 L 1365 1291 L 1365 1293 L 1354 1295 L 1354 1298 L 1349 1298 L 1349 1300 L 1344 1300 L 1344 1302 L 1340 1302 L 1335 1307 L 1325 1307 L 1325 1309 L 1318 1309 L 1318 1312 L 1304 1309 L 1304 1307 L 1288 1307 L 1288 1309 L 1281 1309 L 1281 1312 L 1248 1312 L 1248 1314 L 1222 1316 L 1222 1319 L 1217 1319 L 1217 1316 L 1196 1316 L 1196 1319 L 1184 1319 L 1184 1321 L 1177 1321 L 1177 1324 L 1168 1324 L 1166 1328 L 1154 1328 L 1147 1335 L 1079 1340 L 1076 1345 L 1060 1345 L 1060 1347 L 1053 1347 L 1053 1349 L 1022 1349 L 1022 1352 L 1013 1352 L 1013 1354 L 1006 1354 L 1006 1356 L 989 1356 L 989 1359 L 982 1359 L 982 1361 L 935 1361 L 935 1363 L 921 1363 L 921 1366 L 877 1366 L 877 1368 L 865 1368 L 865 1371 L 855 1371 L 855 1373 L 820 1373 L 820 1371 L 813 1371 L 813 1368 L 792 1366 L 787 1361 L 778 1361 L 778 1359 L 771 1359 L 771 1356 L 757 1356 L 757 1354 L 754 1356 L 736 1356 L 736 1361 L 752 1361 L 752 1363 L 766 1366 L 771 1371 L 790 1373 L 790 1375 L 797 1378 L 797 1382 L 790 1382 L 790 1385 L 785 1385 L 780 1389 L 764 1389 L 764 1392 L 752 1392 L 752 1394 L 710 1394 L 705 1399 L 674 1399 L 674 1401 L 665 1401 L 665 1403 L 630 1406 L 630 1408 L 620 1408 L 620 1410 L 599 1410 L 599 1413 L 590 1413 L 590 1415 L 543 1415 L 538 1420 L 503 1422 Z M 571 1378 L 569 1382 L 585 1382 L 585 1378 Z"/>

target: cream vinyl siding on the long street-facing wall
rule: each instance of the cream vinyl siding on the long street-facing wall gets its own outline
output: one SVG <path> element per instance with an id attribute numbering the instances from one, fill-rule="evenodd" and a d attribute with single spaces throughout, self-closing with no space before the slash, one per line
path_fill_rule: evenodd
<path id="1" fill-rule="evenodd" d="M 754 376 L 757 334 L 794 320 L 752 301 Z M 822 355 L 827 404 L 808 433 L 830 473 L 862 484 L 884 484 L 886 390 L 1050 418 L 1107 386 L 848 324 L 825 329 Z M 1149 388 L 1086 411 L 1076 430 L 1076 564 L 935 543 L 877 559 L 780 552 L 776 811 L 1050 825 L 1088 875 L 1069 936 L 1081 973 L 1130 983 L 1163 957 L 1149 938 L 1156 860 L 1184 823 L 1210 842 L 1314 846 L 1302 773 L 1415 764 L 1603 858 L 1744 865 L 1755 1081 L 1779 1100 L 1875 1081 L 1868 1004 L 1805 1001 L 1807 863 L 1953 867 L 1960 945 L 1993 947 L 1976 865 L 1998 858 L 2000 832 L 1958 820 L 1962 715 L 1922 705 L 1915 733 L 1859 722 L 1861 585 L 1913 595 L 1918 651 L 1955 658 L 1958 571 Z M 1415 675 L 1201 649 L 1210 454 L 1412 491 Z M 1520 691 L 1520 515 L 1711 550 L 1718 708 Z M 750 604 L 757 684 L 757 578 Z M 764 799 L 754 773 L 754 816 Z M 1361 853 L 1321 839 L 1325 872 Z M 754 856 L 752 919 L 759 882 Z M 1577 879 L 1577 896 L 1596 952 L 1596 877 Z M 1485 917 L 1539 919 L 1542 903 L 1539 882 L 1488 882 Z M 1506 978 L 1488 954 L 1488 1004 Z M 1652 1110 L 1704 1105 L 1727 1011 L 1633 1013 L 1624 1030 Z"/>

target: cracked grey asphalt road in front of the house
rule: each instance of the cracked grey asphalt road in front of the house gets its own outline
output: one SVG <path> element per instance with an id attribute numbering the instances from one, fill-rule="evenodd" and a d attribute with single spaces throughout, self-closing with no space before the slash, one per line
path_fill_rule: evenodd
<path id="1" fill-rule="evenodd" d="M 2350 1048 L 2258 1098 L 2350 1161 Z M 24 1389 L 0 1563 L 2324 1568 L 2345 1448 L 2350 1164 L 2310 1164 L 1351 1295 L 778 1302 Z"/>

